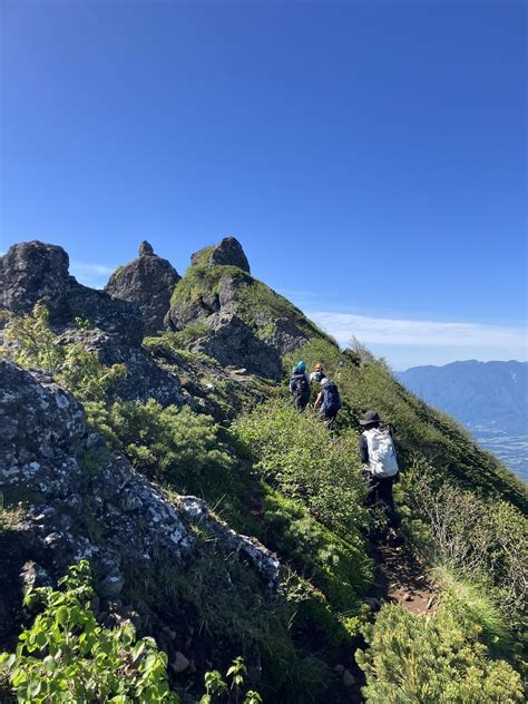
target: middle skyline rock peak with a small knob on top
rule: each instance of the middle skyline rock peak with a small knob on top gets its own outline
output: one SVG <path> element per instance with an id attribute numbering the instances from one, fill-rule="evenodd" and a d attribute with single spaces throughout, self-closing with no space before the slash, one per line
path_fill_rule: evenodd
<path id="1" fill-rule="evenodd" d="M 114 272 L 105 292 L 135 303 L 141 313 L 145 334 L 155 335 L 163 330 L 170 295 L 180 278 L 170 262 L 154 254 L 148 242 L 141 242 L 139 257 Z"/>

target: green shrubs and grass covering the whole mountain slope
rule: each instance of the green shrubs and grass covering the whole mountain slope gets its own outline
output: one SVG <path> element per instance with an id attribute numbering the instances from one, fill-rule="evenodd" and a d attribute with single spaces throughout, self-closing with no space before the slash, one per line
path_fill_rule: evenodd
<path id="1" fill-rule="evenodd" d="M 189 647 L 203 654 L 202 663 L 214 662 L 225 672 L 234 655 L 242 653 L 247 663 L 262 665 L 261 688 L 268 701 L 334 701 L 339 695 L 331 667 L 353 655 L 362 629 L 368 647 L 358 653 L 358 662 L 366 675 L 368 702 L 520 702 L 520 676 L 514 667 L 519 672 L 522 667 L 526 489 L 454 421 L 410 394 L 382 360 L 361 345 L 341 351 L 297 309 L 248 274 L 231 266 L 207 266 L 209 252 L 203 251 L 199 263 L 178 283 L 174 301 L 190 313 L 201 300 L 214 307 L 225 285 L 237 314 L 260 336 L 272 338 L 281 319 L 293 323 L 309 342 L 283 358 L 285 375 L 299 359 L 310 369 L 323 363 L 342 397 L 335 433 L 325 430 L 317 413 L 293 410 L 285 380 L 274 387 L 251 377 L 235 379 L 233 370 L 189 351 L 207 333 L 199 319 L 178 332 L 146 340 L 145 346 L 158 363 L 177 371 L 193 395 L 202 394 L 207 412 L 213 408 L 215 418 L 235 419 L 231 424 L 219 424 L 190 407 L 110 401 L 108 390 L 125 370 L 102 366 L 80 345 L 59 344 L 42 305 L 8 322 L 7 353 L 19 363 L 48 370 L 76 393 L 90 427 L 106 437 L 110 449 L 160 482 L 175 502 L 178 493 L 205 498 L 231 527 L 276 551 L 283 565 L 278 591 L 268 593 L 253 570 L 219 554 L 211 536 L 190 527 L 198 546 L 195 559 L 185 568 L 162 558 L 151 570 L 126 566 L 123 598 L 146 606 L 175 629 L 184 632 L 193 624 Z M 362 598 L 373 580 L 365 536 L 372 517 L 363 507 L 365 487 L 356 446 L 358 420 L 371 408 L 395 426 L 402 470 L 397 506 L 408 545 L 438 585 L 440 607 L 434 616 L 419 618 L 384 606 L 374 623 L 365 624 L 369 616 Z M 81 462 L 86 475 L 97 479 L 97 453 L 87 452 Z M 9 497 L 0 515 L 1 540 L 19 517 L 13 501 Z M 88 530 L 104 535 L 98 525 L 89 525 Z M 77 673 L 84 673 L 90 686 L 110 686 L 113 673 L 123 673 L 121 667 L 134 663 L 136 648 L 143 647 L 128 626 L 116 632 L 94 626 L 82 637 L 85 623 L 92 623 L 86 616 L 88 593 L 82 590 L 89 587 L 72 587 L 74 577 L 66 591 L 41 593 L 45 612 L 33 641 L 26 635 L 18 654 L 3 658 L 20 696 L 40 701 L 35 697 L 45 696 L 48 685 L 43 679 L 38 690 L 37 679 L 55 677 L 55 671 L 58 683 L 66 682 L 65 672 L 72 673 L 68 686 L 88 686 L 81 674 L 76 684 Z M 67 622 L 57 620 L 59 612 L 65 613 L 62 602 L 57 599 L 66 599 L 63 604 L 78 613 L 77 603 L 65 594 L 77 594 L 79 613 L 85 614 L 69 629 L 74 637 L 67 653 L 75 663 L 61 659 L 67 657 L 61 654 L 48 672 L 47 649 L 55 647 L 53 638 L 66 637 Z M 38 657 L 29 645 L 38 648 Z M 164 656 L 151 642 L 141 653 L 147 651 L 148 657 L 154 656 L 149 662 L 156 663 L 153 686 L 163 688 Z M 72 653 L 80 655 L 74 658 Z M 145 675 L 139 673 L 143 662 L 134 665 L 131 679 L 123 677 L 123 687 L 136 686 Z M 204 703 L 222 697 L 258 702 L 258 695 L 246 692 L 239 681 L 245 664 L 235 661 L 231 667 L 226 677 L 221 671 L 207 673 Z M 131 688 L 116 690 L 115 695 L 148 701 L 137 698 Z"/>

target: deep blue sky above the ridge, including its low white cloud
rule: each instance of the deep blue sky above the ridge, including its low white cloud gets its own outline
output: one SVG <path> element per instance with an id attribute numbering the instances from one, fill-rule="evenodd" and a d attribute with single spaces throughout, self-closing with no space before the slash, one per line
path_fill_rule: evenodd
<path id="1" fill-rule="evenodd" d="M 0 250 L 235 235 L 394 369 L 526 359 L 526 7 L 2 0 Z"/>

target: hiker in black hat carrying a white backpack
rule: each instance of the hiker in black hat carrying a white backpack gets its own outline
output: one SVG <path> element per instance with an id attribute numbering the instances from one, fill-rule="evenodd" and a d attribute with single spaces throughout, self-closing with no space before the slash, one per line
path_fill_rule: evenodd
<path id="1" fill-rule="evenodd" d="M 360 420 L 364 430 L 360 436 L 360 454 L 363 462 L 363 475 L 369 482 L 370 493 L 366 506 L 378 501 L 387 516 L 390 535 L 395 535 L 398 519 L 394 511 L 392 485 L 398 477 L 398 460 L 392 429 L 381 422 L 377 411 L 366 411 Z"/>

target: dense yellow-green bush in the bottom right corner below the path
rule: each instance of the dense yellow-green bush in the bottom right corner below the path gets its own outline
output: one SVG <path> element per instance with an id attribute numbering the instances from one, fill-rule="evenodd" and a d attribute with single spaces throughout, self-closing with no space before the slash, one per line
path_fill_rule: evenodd
<path id="1" fill-rule="evenodd" d="M 423 617 L 383 606 L 375 624 L 364 629 L 369 649 L 355 655 L 366 675 L 366 702 L 522 702 L 520 675 L 506 662 L 489 659 L 478 635 L 478 626 L 461 625 L 447 609 Z"/>

